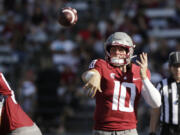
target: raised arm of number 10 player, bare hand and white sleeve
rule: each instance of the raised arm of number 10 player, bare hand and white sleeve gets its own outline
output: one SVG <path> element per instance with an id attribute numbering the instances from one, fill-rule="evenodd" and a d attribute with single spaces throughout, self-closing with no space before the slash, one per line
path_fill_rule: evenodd
<path id="1" fill-rule="evenodd" d="M 148 67 L 148 60 L 147 60 L 147 53 L 140 54 L 140 61 L 137 63 L 141 67 L 141 78 L 143 82 L 142 88 L 142 96 L 144 97 L 145 101 L 152 107 L 157 108 L 161 106 L 161 95 L 159 91 L 154 87 L 151 83 L 149 78 L 147 77 L 147 67 Z"/>

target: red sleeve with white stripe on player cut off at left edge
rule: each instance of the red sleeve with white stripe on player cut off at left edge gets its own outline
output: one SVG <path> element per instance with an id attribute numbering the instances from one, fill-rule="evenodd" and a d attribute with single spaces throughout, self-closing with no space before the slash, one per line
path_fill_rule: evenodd
<path id="1" fill-rule="evenodd" d="M 11 88 L 2 73 L 0 73 L 0 94 L 11 96 Z"/>

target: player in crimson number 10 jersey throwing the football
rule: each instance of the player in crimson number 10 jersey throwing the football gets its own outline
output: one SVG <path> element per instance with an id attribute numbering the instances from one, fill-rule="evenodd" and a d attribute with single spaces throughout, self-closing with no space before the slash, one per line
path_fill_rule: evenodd
<path id="1" fill-rule="evenodd" d="M 95 96 L 93 135 L 137 135 L 137 106 L 140 96 L 153 108 L 161 97 L 150 82 L 147 54 L 131 62 L 135 45 L 129 35 L 115 32 L 104 44 L 106 58 L 96 59 L 82 74 L 85 89 Z"/>

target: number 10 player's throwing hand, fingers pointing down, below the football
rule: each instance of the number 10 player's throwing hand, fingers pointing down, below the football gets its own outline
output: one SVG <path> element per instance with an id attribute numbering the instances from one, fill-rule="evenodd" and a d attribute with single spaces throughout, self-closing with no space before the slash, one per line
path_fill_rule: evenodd
<path id="1" fill-rule="evenodd" d="M 84 89 L 88 90 L 88 96 L 93 98 L 96 92 L 102 92 L 100 88 L 101 77 L 99 74 L 93 75 L 85 84 Z"/>

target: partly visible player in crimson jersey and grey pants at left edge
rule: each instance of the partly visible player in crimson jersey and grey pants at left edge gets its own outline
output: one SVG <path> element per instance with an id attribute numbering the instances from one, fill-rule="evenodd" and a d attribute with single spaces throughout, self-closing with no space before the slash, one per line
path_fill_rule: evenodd
<path id="1" fill-rule="evenodd" d="M 0 118 L 0 134 L 2 135 L 11 135 L 11 133 L 14 133 L 13 135 L 34 133 L 35 135 L 41 135 L 36 124 L 16 102 L 14 91 L 11 90 L 2 73 L 0 73 Z"/>

